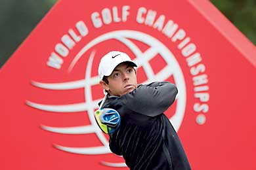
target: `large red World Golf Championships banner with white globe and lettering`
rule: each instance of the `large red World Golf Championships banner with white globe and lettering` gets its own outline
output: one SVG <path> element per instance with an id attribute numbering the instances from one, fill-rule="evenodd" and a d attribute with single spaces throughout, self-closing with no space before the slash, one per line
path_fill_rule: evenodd
<path id="1" fill-rule="evenodd" d="M 256 49 L 200 0 L 58 1 L 1 69 L 0 169 L 128 169 L 93 117 L 111 50 L 177 85 L 165 114 L 192 169 L 256 169 Z"/>

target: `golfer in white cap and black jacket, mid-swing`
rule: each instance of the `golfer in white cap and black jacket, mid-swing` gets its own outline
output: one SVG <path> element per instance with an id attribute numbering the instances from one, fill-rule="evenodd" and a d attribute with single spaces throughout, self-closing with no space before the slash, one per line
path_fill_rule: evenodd
<path id="1" fill-rule="evenodd" d="M 115 109 L 121 121 L 110 133 L 110 150 L 130 169 L 190 169 L 175 129 L 163 114 L 177 95 L 169 82 L 138 85 L 137 65 L 123 52 L 109 52 L 98 74 L 106 95 L 102 108 Z M 103 122 L 104 123 L 104 122 Z"/>

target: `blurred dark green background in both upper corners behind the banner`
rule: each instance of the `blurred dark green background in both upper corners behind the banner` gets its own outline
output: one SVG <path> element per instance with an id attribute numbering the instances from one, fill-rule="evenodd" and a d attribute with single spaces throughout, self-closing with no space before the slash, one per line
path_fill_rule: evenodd
<path id="1" fill-rule="evenodd" d="M 56 0 L 0 0 L 0 67 L 54 3 Z M 211 3 L 256 44 L 256 0 L 211 0 Z"/>

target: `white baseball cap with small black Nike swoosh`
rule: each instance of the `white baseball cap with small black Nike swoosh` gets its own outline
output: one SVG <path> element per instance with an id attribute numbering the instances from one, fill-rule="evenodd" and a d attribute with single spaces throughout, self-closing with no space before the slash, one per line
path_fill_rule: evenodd
<path id="1" fill-rule="evenodd" d="M 102 80 L 104 76 L 110 76 L 116 66 L 125 61 L 129 61 L 133 67 L 137 67 L 131 58 L 123 52 L 112 51 L 103 56 L 98 65 L 98 76 L 100 76 L 100 80 Z"/>

